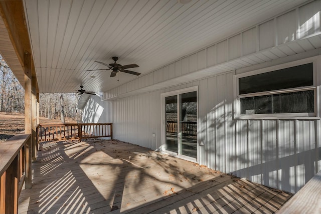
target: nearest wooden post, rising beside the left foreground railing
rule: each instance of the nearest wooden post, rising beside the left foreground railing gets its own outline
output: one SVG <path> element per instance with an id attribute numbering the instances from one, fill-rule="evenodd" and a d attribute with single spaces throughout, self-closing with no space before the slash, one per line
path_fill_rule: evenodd
<path id="1" fill-rule="evenodd" d="M 31 54 L 25 53 L 25 133 L 32 134 Z M 32 187 L 32 138 L 26 142 L 26 188 Z"/>

